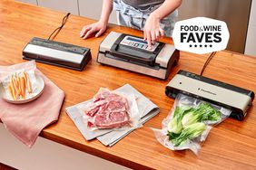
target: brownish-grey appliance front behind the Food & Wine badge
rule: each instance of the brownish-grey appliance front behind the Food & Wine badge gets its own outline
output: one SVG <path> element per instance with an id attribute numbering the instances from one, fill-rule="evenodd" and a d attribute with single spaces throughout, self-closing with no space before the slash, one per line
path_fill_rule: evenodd
<path id="1" fill-rule="evenodd" d="M 204 16 L 224 21 L 230 32 L 227 50 L 243 53 L 250 7 L 251 0 L 183 0 L 179 19 Z"/>

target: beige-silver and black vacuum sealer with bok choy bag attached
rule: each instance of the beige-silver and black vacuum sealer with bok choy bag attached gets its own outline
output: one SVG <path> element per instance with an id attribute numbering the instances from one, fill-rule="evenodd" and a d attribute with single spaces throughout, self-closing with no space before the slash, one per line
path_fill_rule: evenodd
<path id="1" fill-rule="evenodd" d="M 179 71 L 167 84 L 165 93 L 171 98 L 182 93 L 231 109 L 231 118 L 238 120 L 246 116 L 254 99 L 254 92 L 251 90 L 241 89 L 188 71 Z"/>

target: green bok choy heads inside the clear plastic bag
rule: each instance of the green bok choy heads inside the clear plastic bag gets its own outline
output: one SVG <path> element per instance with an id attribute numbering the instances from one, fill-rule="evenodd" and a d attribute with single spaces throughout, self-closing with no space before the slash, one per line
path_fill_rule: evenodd
<path id="1" fill-rule="evenodd" d="M 219 121 L 221 118 L 221 112 L 208 103 L 202 102 L 195 108 L 182 105 L 174 110 L 172 120 L 167 125 L 167 136 L 174 146 L 180 146 L 202 134 L 206 129 L 203 121 Z"/>

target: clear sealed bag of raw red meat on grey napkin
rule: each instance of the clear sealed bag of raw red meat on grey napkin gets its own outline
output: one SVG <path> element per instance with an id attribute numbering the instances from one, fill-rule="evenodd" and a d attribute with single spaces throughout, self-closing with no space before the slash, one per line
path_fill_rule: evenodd
<path id="1" fill-rule="evenodd" d="M 135 95 L 101 88 L 92 102 L 79 106 L 87 127 L 94 129 L 138 126 L 140 114 Z"/>

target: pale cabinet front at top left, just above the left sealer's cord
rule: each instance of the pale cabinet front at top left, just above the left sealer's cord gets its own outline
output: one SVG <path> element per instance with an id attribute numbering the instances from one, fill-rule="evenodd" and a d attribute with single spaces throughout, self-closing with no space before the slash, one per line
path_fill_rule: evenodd
<path id="1" fill-rule="evenodd" d="M 78 13 L 77 0 L 37 0 L 38 5 L 71 14 Z"/>

